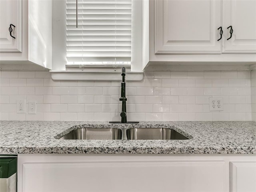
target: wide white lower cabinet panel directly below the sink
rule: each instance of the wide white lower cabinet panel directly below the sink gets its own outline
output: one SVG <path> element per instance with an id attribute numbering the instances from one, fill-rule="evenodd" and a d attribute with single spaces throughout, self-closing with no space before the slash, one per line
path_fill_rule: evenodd
<path id="1" fill-rule="evenodd" d="M 224 161 L 26 162 L 23 192 L 224 192 Z"/>

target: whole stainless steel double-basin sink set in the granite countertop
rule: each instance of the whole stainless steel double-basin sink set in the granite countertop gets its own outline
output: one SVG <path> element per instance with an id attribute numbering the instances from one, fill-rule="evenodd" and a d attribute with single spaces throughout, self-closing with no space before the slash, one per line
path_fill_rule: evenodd
<path id="1" fill-rule="evenodd" d="M 185 140 L 176 130 L 169 128 L 78 128 L 62 136 L 61 140 Z"/>

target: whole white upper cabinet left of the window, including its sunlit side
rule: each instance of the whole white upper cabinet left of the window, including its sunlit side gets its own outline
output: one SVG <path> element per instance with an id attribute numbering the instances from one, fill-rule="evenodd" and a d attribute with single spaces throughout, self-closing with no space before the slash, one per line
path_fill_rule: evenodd
<path id="1" fill-rule="evenodd" d="M 52 0 L 0 0 L 0 10 L 0 68 L 51 69 Z"/>

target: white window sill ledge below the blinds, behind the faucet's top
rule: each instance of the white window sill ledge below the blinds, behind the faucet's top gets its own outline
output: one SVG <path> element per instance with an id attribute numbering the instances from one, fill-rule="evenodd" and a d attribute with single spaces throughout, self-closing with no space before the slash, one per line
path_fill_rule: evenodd
<path id="1" fill-rule="evenodd" d="M 120 71 L 54 71 L 52 80 L 65 81 L 121 81 Z M 143 72 L 126 72 L 126 81 L 141 81 Z"/>

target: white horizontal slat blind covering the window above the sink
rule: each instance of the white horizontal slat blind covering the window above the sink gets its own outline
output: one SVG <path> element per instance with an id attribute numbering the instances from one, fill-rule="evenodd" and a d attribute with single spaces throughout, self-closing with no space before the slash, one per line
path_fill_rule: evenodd
<path id="1" fill-rule="evenodd" d="M 66 3 L 66 69 L 129 66 L 132 0 L 76 0 Z"/>

